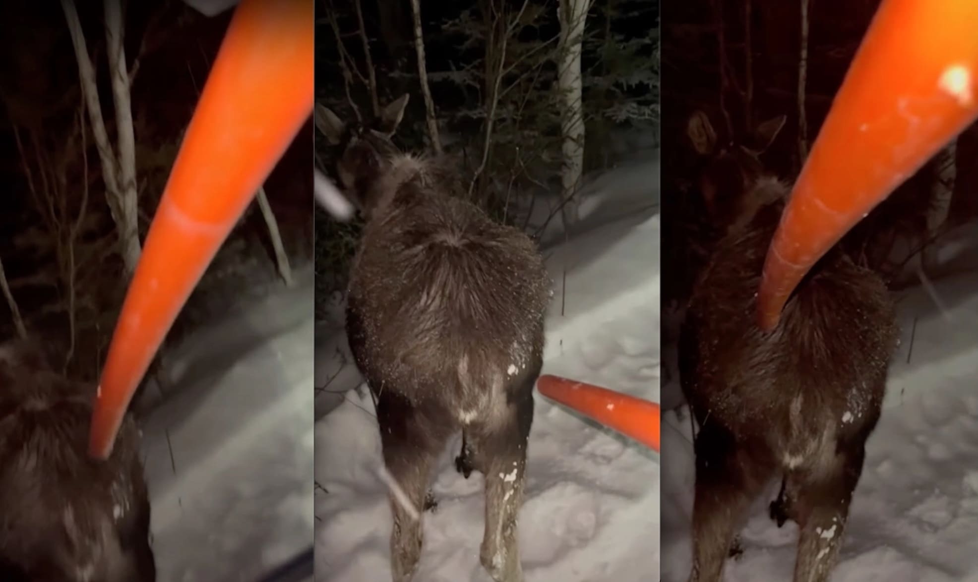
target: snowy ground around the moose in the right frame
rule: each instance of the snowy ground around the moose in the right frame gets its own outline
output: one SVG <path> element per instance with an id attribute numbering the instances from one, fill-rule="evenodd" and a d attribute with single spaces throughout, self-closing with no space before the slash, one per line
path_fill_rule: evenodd
<path id="1" fill-rule="evenodd" d="M 931 282 L 932 291 L 897 293 L 901 345 L 833 582 L 978 581 L 978 262 L 961 273 L 978 238 L 964 243 L 956 237 L 940 253 L 939 270 L 958 274 Z M 677 401 L 672 380 L 663 389 L 666 400 Z M 682 421 L 675 411 L 663 412 L 666 582 L 689 576 L 694 470 L 689 410 L 681 411 Z M 751 511 L 741 531 L 743 553 L 727 562 L 727 582 L 790 580 L 797 526 L 778 529 L 768 516 L 777 493 L 773 483 Z"/>

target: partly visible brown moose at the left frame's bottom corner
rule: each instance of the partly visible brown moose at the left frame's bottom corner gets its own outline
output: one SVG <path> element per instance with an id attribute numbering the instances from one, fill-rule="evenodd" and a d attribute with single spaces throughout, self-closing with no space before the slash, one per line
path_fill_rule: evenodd
<path id="1" fill-rule="evenodd" d="M 127 418 L 89 458 L 93 392 L 35 345 L 0 346 L 0 580 L 156 580 L 139 432 Z"/>

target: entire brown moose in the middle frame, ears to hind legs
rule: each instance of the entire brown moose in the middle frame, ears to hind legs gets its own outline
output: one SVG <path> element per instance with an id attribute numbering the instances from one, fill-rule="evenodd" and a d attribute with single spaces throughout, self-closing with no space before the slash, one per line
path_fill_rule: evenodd
<path id="1" fill-rule="evenodd" d="M 485 475 L 480 560 L 497 582 L 520 582 L 516 515 L 551 282 L 533 242 L 463 200 L 451 168 L 391 145 L 406 102 L 384 110 L 379 130 L 317 112 L 331 143 L 346 141 L 337 173 L 366 218 L 347 336 L 377 401 L 386 469 L 420 512 L 434 463 L 461 429 L 457 467 Z M 391 508 L 393 579 L 407 582 L 422 523 L 393 496 Z"/>

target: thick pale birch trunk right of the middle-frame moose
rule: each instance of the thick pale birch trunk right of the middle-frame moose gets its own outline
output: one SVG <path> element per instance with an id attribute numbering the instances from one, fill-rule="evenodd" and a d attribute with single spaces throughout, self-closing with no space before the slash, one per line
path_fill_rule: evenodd
<path id="1" fill-rule="evenodd" d="M 563 100 L 560 132 L 562 164 L 560 184 L 563 198 L 564 228 L 578 219 L 577 190 L 584 171 L 584 110 L 582 107 L 581 43 L 584 22 L 592 0 L 559 0 L 560 50 L 557 64 L 557 89 Z"/>

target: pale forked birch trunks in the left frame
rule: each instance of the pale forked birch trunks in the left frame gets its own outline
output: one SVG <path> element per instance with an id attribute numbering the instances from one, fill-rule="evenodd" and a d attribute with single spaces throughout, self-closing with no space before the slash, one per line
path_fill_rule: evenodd
<path id="1" fill-rule="evenodd" d="M 136 139 L 132 127 L 132 108 L 129 101 L 130 73 L 126 66 L 123 42 L 121 0 L 105 0 L 104 25 L 111 75 L 112 104 L 115 114 L 115 144 L 111 144 L 102 115 L 99 89 L 81 29 L 74 0 L 61 0 L 65 12 L 71 45 L 78 64 L 78 80 L 84 95 L 86 110 L 91 122 L 92 135 L 102 162 L 102 176 L 106 186 L 106 201 L 118 236 L 119 254 L 131 277 L 142 254 L 139 242 L 139 201 L 136 187 Z"/>

